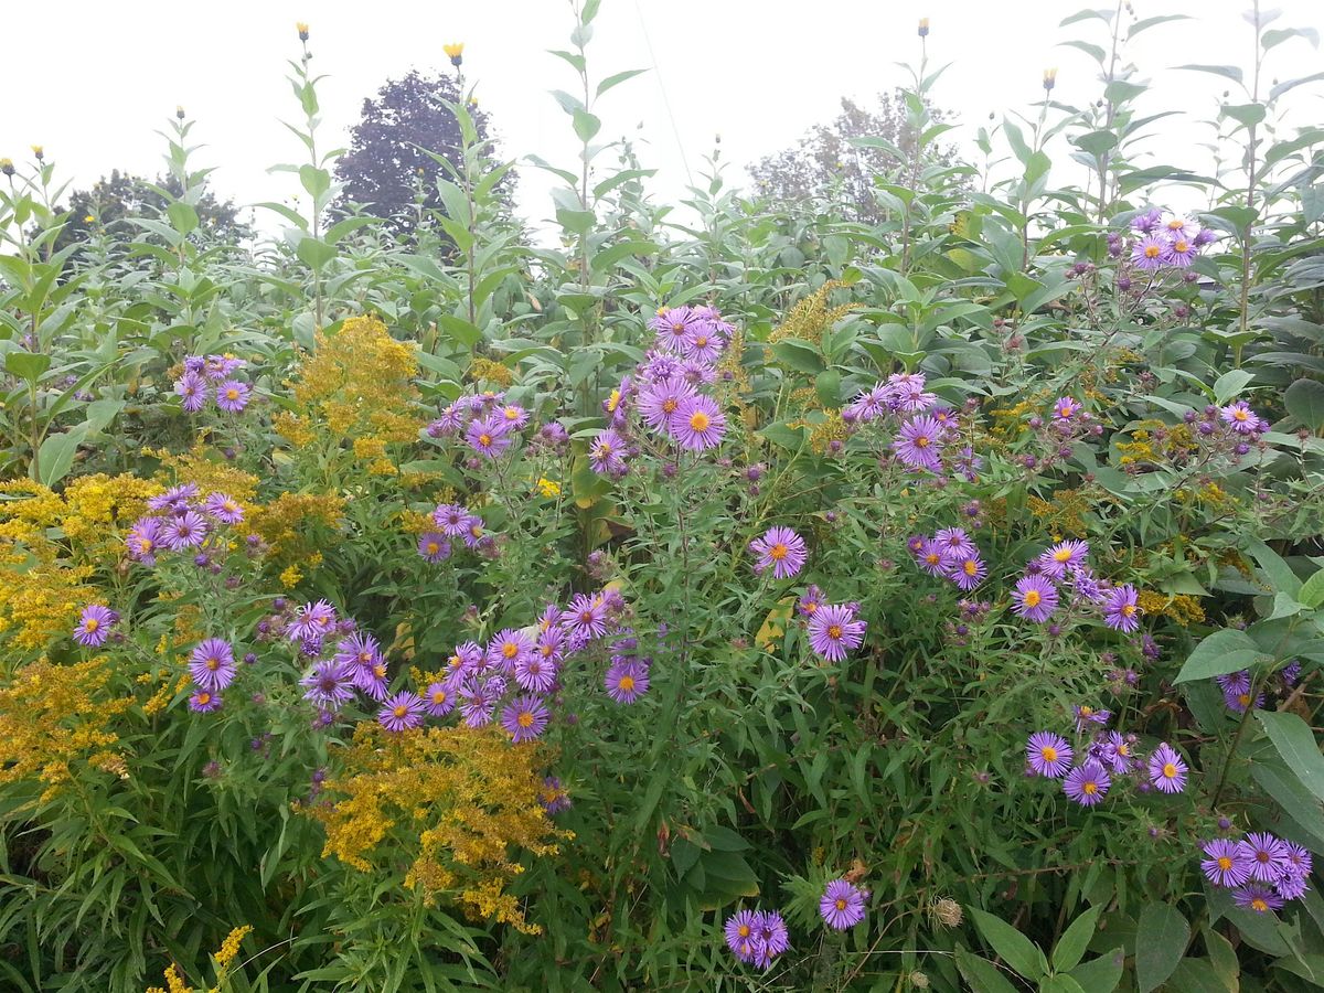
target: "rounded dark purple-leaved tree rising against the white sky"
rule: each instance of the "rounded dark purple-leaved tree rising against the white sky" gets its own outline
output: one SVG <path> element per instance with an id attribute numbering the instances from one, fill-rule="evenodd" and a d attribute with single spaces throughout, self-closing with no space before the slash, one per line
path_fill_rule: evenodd
<path id="1" fill-rule="evenodd" d="M 446 105 L 463 99 L 458 77 L 410 70 L 400 79 L 388 79 L 375 99 L 363 102 L 363 119 L 350 132 L 350 151 L 336 163 L 336 179 L 343 184 L 340 207 L 357 204 L 397 234 L 412 232 L 426 211 L 441 209 L 437 179 L 448 176 L 422 150 L 461 164 L 459 124 Z M 487 114 L 473 101 L 469 113 L 491 154 Z M 511 181 L 511 173 L 502 179 L 507 193 Z"/>

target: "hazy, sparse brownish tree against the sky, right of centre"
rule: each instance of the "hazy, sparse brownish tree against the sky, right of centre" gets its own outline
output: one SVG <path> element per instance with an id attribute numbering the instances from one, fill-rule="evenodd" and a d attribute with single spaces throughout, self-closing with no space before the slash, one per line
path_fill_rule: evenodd
<path id="1" fill-rule="evenodd" d="M 935 120 L 943 119 L 940 111 L 931 107 L 929 113 Z M 857 148 L 851 138 L 884 138 L 910 156 L 915 135 L 906 127 L 900 91 L 878 94 L 873 107 L 842 97 L 841 114 L 830 123 L 816 124 L 796 147 L 768 155 L 749 167 L 756 192 L 785 204 L 831 196 L 846 220 L 880 221 L 886 212 L 874 199 L 873 177 L 895 173 L 904 162 L 884 148 Z M 943 166 L 953 160 L 952 150 L 939 156 Z"/>

